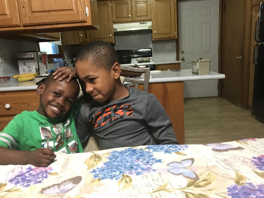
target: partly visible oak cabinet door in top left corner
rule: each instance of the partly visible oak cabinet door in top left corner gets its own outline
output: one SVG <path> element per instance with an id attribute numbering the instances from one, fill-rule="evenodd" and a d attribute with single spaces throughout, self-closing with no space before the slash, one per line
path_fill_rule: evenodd
<path id="1" fill-rule="evenodd" d="M 16 0 L 0 0 L 0 27 L 21 26 Z"/>

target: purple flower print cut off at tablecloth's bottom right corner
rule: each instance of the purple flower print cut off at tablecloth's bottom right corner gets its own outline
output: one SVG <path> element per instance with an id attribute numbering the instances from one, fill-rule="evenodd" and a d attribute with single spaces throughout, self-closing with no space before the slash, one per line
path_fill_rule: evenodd
<path id="1" fill-rule="evenodd" d="M 262 198 L 264 197 L 264 184 L 244 183 L 241 186 L 233 184 L 227 187 L 227 192 L 227 195 L 232 198 Z"/>

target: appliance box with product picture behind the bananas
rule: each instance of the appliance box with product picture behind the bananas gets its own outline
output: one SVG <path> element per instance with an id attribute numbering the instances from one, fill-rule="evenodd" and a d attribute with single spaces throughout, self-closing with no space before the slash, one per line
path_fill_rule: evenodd
<path id="1" fill-rule="evenodd" d="M 18 52 L 19 73 L 38 73 L 43 76 L 49 73 L 47 52 Z"/>

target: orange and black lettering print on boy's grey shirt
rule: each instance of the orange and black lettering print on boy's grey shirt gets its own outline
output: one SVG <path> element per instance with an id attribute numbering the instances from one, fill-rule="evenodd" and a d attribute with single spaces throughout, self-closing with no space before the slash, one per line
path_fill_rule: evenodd
<path id="1" fill-rule="evenodd" d="M 132 105 L 133 104 L 122 104 L 121 106 L 113 105 L 112 107 L 108 107 L 104 110 L 92 114 L 89 122 L 93 126 L 93 128 L 97 128 L 99 126 L 105 126 L 123 118 L 129 118 L 133 116 L 134 112 L 132 110 Z"/>

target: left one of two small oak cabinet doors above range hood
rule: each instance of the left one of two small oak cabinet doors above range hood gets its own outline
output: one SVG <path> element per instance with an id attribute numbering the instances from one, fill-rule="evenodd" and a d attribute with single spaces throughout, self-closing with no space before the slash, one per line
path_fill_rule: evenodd
<path id="1" fill-rule="evenodd" d="M 112 1 L 113 22 L 131 22 L 131 0 Z"/>

